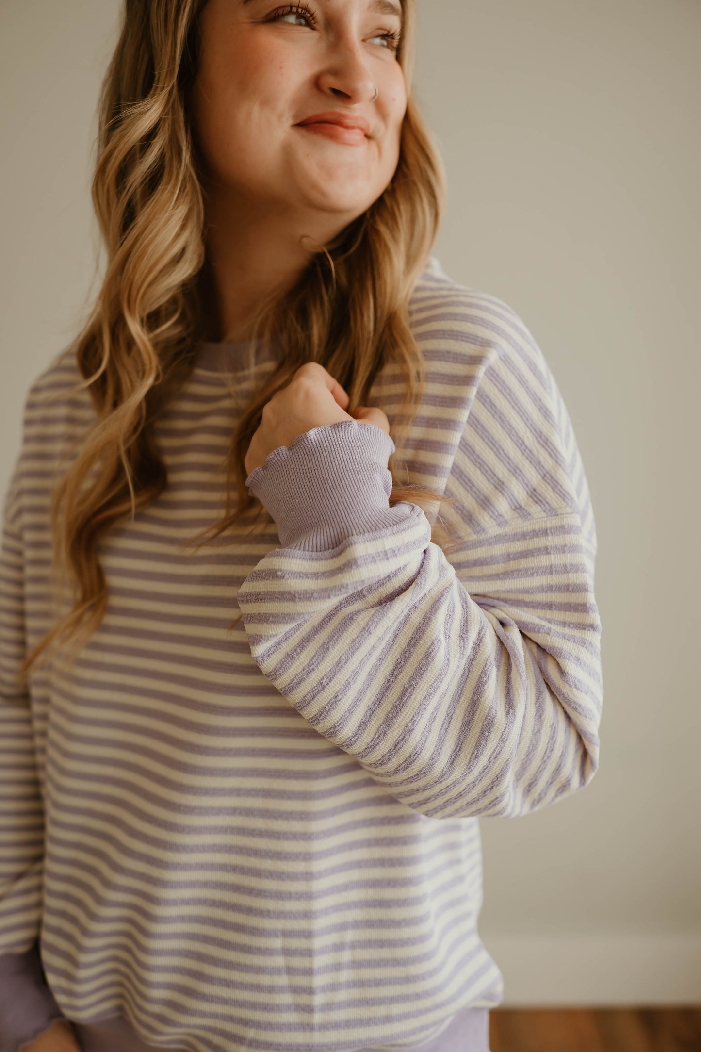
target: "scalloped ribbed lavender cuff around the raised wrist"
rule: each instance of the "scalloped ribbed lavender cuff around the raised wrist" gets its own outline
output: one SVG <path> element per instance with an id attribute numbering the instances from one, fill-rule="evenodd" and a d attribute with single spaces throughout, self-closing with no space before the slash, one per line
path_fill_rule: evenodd
<path id="1" fill-rule="evenodd" d="M 375 424 L 322 424 L 268 453 L 246 485 L 274 519 L 284 548 L 326 551 L 411 513 L 411 505 L 389 505 L 394 448 Z"/>

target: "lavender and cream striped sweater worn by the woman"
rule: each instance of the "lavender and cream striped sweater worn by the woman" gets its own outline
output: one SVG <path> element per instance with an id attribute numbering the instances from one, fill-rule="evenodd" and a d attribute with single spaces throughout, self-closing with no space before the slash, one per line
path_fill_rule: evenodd
<path id="1" fill-rule="evenodd" d="M 355 421 L 250 474 L 267 532 L 182 548 L 273 368 L 204 344 L 157 424 L 166 490 L 101 544 L 102 626 L 22 692 L 53 619 L 49 485 L 92 411 L 68 356 L 33 384 L 1 565 L 0 1052 L 61 1016 L 86 1052 L 487 1050 L 478 820 L 597 769 L 596 530 L 514 310 L 432 259 L 411 319 L 428 383 L 397 454 L 455 499 L 450 555 L 389 506 L 394 442 Z M 401 384 L 389 363 L 368 399 L 390 426 Z"/>

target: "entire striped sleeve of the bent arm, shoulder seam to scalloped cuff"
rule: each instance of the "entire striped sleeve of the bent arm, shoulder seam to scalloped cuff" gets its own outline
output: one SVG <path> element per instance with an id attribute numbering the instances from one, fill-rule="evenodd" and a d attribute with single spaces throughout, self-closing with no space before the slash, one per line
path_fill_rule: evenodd
<path id="1" fill-rule="evenodd" d="M 254 661 L 435 818 L 528 814 L 599 762 L 594 521 L 566 410 L 518 321 L 459 438 L 450 555 L 417 505 L 389 505 L 394 443 L 375 425 L 314 427 L 246 480 L 282 544 L 238 594 Z"/>

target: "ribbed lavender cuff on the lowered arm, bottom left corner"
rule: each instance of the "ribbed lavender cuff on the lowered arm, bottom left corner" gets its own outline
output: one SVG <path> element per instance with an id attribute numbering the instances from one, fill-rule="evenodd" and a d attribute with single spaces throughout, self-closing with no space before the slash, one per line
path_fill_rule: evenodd
<path id="1" fill-rule="evenodd" d="M 0 956 L 0 1052 L 18 1052 L 63 1018 L 46 984 L 37 943 L 24 953 Z"/>

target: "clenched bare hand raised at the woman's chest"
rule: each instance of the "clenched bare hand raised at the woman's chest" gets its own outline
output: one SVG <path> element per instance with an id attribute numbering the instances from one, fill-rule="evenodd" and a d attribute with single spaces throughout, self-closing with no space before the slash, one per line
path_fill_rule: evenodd
<path id="1" fill-rule="evenodd" d="M 287 387 L 275 391 L 263 406 L 261 424 L 244 458 L 247 474 L 264 464 L 273 449 L 291 445 L 298 434 L 312 427 L 335 424 L 339 420 L 357 420 L 359 424 L 374 424 L 390 433 L 390 422 L 382 409 L 358 406 L 351 417 L 345 411 L 349 402 L 344 388 L 323 365 L 305 362 Z"/>

